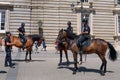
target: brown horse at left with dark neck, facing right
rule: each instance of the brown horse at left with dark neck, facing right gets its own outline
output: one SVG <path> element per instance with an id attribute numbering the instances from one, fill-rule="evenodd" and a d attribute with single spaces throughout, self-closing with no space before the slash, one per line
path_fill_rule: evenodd
<path id="1" fill-rule="evenodd" d="M 21 40 L 19 37 L 16 36 L 10 36 L 11 42 L 13 43 L 13 46 L 16 46 L 18 48 L 23 48 L 23 44 L 21 43 Z M 31 61 L 31 52 L 32 52 L 32 47 L 33 43 L 35 41 L 38 41 L 38 46 L 40 46 L 41 42 L 44 40 L 43 37 L 39 35 L 29 35 L 26 37 L 27 42 L 26 42 L 26 56 L 25 56 L 25 61 L 27 61 L 27 56 L 29 54 L 29 60 Z"/>

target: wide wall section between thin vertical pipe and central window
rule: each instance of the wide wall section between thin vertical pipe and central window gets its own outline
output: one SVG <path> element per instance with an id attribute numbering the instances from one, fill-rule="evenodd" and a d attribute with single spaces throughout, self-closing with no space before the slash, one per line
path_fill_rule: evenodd
<path id="1" fill-rule="evenodd" d="M 43 35 L 47 44 L 53 46 L 60 29 L 67 28 L 67 21 L 72 22 L 74 32 L 77 29 L 77 16 L 71 11 L 70 4 L 73 0 L 35 0 L 33 6 L 37 8 L 32 11 L 32 26 L 37 26 L 37 22 L 43 22 Z M 76 1 L 75 1 L 76 2 Z"/>

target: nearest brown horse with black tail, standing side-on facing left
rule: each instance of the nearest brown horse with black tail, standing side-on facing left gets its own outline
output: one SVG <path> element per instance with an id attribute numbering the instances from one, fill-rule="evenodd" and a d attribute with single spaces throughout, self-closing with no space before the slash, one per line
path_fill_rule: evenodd
<path id="1" fill-rule="evenodd" d="M 76 74 L 76 71 L 78 70 L 77 67 L 77 54 L 79 53 L 79 48 L 77 46 L 77 39 L 76 35 L 74 35 L 74 39 L 71 39 L 69 34 L 67 34 L 66 30 L 61 29 L 59 35 L 62 38 L 68 38 L 69 41 L 69 47 L 71 51 L 73 52 L 73 58 L 74 58 L 74 68 L 75 70 L 73 71 L 73 74 Z M 69 35 L 69 36 L 68 36 Z M 112 61 L 115 61 L 117 59 L 117 52 L 114 49 L 114 47 L 107 41 L 103 39 L 92 39 L 91 43 L 89 46 L 83 47 L 83 53 L 84 54 L 97 54 L 99 58 L 102 61 L 101 67 L 100 67 L 100 73 L 101 75 L 105 75 L 106 73 L 106 66 L 107 66 L 107 61 L 105 58 L 106 51 L 109 49 L 109 59 Z"/>

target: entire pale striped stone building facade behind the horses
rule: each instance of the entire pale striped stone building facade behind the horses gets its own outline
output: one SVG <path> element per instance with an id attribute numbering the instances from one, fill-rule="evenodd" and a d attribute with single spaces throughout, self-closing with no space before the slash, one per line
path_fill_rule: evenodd
<path id="1" fill-rule="evenodd" d="M 26 34 L 39 34 L 38 22 L 42 22 L 43 35 L 48 46 L 53 46 L 60 29 L 66 29 L 67 21 L 72 22 L 75 33 L 80 33 L 81 12 L 74 13 L 71 3 L 80 0 L 0 0 L 0 34 L 10 31 L 17 36 L 17 28 L 26 24 Z M 96 38 L 114 43 L 113 36 L 120 34 L 120 0 L 83 0 L 83 7 L 92 2 L 88 18 L 91 34 Z M 89 9 L 88 9 L 89 10 Z"/>

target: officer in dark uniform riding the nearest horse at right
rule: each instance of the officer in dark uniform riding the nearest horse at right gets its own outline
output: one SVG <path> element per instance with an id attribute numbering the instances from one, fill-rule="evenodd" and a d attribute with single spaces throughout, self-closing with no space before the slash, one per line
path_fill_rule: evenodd
<path id="1" fill-rule="evenodd" d="M 78 39 L 78 47 L 80 49 L 80 53 L 82 53 L 82 43 L 90 39 L 90 27 L 88 26 L 88 21 L 86 19 L 83 19 L 82 24 L 82 31 Z"/>

